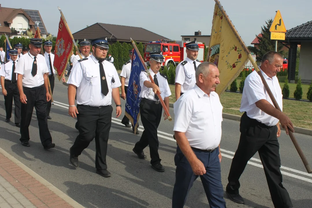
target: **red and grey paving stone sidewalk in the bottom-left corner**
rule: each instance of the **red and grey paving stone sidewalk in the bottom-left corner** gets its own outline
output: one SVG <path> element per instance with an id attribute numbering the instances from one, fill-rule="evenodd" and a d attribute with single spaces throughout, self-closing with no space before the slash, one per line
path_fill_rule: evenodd
<path id="1" fill-rule="evenodd" d="M 83 206 L 0 148 L 0 208 L 10 207 Z"/>

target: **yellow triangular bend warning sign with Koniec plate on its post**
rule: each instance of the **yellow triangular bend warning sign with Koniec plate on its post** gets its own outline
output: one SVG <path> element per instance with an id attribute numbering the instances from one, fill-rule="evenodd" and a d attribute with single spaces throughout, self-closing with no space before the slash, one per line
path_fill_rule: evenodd
<path id="1" fill-rule="evenodd" d="M 275 51 L 277 52 L 277 40 L 285 40 L 286 27 L 280 10 L 277 10 L 272 25 L 270 27 L 271 40 L 275 40 Z"/>

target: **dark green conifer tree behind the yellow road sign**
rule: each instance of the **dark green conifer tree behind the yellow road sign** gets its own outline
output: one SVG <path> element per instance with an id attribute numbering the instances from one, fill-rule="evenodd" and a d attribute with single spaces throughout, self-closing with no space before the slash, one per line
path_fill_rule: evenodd
<path id="1" fill-rule="evenodd" d="M 263 25 L 263 27 L 261 27 L 261 36 L 258 36 L 259 39 L 259 51 L 258 51 L 258 56 L 257 56 L 257 61 L 261 61 L 262 60 L 262 56 L 269 51 L 275 51 L 275 40 L 271 40 L 270 36 L 271 36 L 271 32 L 270 32 L 270 27 L 272 25 L 273 20 L 269 19 L 268 21 L 266 21 L 266 25 Z M 277 43 L 277 51 L 281 53 L 281 49 L 284 46 L 278 42 Z"/>

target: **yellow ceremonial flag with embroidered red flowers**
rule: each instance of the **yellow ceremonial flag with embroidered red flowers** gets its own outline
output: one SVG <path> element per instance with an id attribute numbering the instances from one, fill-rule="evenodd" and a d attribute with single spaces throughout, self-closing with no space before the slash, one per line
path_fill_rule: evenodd
<path id="1" fill-rule="evenodd" d="M 207 59 L 216 64 L 220 72 L 220 84 L 216 88 L 220 95 L 239 75 L 248 56 L 217 3 L 213 12 L 209 49 Z"/>

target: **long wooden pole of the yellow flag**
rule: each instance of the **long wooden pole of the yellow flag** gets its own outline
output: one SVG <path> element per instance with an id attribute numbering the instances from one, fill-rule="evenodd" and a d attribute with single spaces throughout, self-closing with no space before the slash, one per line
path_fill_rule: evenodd
<path id="1" fill-rule="evenodd" d="M 252 65 L 254 66 L 254 68 L 256 69 L 256 72 L 257 72 L 258 75 L 261 77 L 261 80 L 262 80 L 262 82 L 263 82 L 263 85 L 264 85 L 264 87 L 265 87 L 267 93 L 269 94 L 269 96 L 270 96 L 270 98 L 271 98 L 271 100 L 272 100 L 272 102 L 273 102 L 273 104 L 274 104 L 274 107 L 275 107 L 276 109 L 278 109 L 279 111 L 281 111 L 281 109 L 280 109 L 279 105 L 277 104 L 277 102 L 276 102 L 276 100 L 275 100 L 275 98 L 274 98 L 274 96 L 273 96 L 273 94 L 272 94 L 272 92 L 271 92 L 271 90 L 270 90 L 268 84 L 266 83 L 266 80 L 264 79 L 264 77 L 263 77 L 263 75 L 262 75 L 262 73 L 261 73 L 259 67 L 257 66 L 255 60 L 252 58 L 250 51 L 248 50 L 248 48 L 247 48 L 247 46 L 245 45 L 244 41 L 241 39 L 241 36 L 238 34 L 238 32 L 237 32 L 237 30 L 235 29 L 235 27 L 234 27 L 233 23 L 231 22 L 230 18 L 227 16 L 227 13 L 224 11 L 224 9 L 223 9 L 223 7 L 222 7 L 220 1 L 219 1 L 219 0 L 215 0 L 215 2 L 216 2 L 216 4 L 218 5 L 218 7 L 220 8 L 220 11 L 223 13 L 224 17 L 227 19 L 227 22 L 228 22 L 229 25 L 231 26 L 232 31 L 233 31 L 234 34 L 236 35 L 237 39 L 240 41 L 241 45 L 242 45 L 243 48 L 245 49 L 245 52 L 247 53 L 249 60 L 251 61 L 251 63 L 252 63 Z M 300 156 L 300 158 L 301 158 L 301 160 L 302 160 L 302 162 L 303 162 L 303 164 L 304 164 L 304 166 L 305 166 L 305 169 L 307 170 L 308 173 L 312 173 L 312 169 L 311 169 L 311 167 L 310 167 L 310 165 L 309 165 L 309 162 L 308 162 L 308 160 L 306 159 L 305 154 L 302 152 L 302 149 L 300 148 L 300 145 L 299 145 L 299 143 L 297 142 L 297 139 L 295 138 L 294 133 L 292 133 L 292 132 L 290 131 L 289 128 L 288 128 L 288 132 L 289 132 L 290 139 L 291 139 L 291 141 L 293 142 L 293 144 L 294 144 L 294 146 L 295 146 L 295 148 L 296 148 L 296 150 L 297 150 L 297 152 L 298 152 L 298 154 L 299 154 L 299 156 Z"/>

